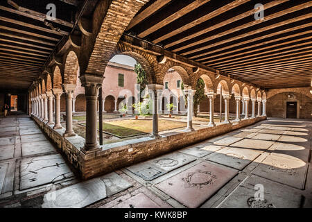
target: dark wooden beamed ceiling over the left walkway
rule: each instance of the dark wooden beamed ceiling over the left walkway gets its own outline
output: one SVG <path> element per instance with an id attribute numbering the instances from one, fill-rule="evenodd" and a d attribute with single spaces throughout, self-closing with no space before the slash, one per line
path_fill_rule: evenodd
<path id="1" fill-rule="evenodd" d="M 0 1 L 0 88 L 28 89 L 62 37 L 75 24 L 83 0 Z M 54 3 L 56 19 L 46 6 Z"/>

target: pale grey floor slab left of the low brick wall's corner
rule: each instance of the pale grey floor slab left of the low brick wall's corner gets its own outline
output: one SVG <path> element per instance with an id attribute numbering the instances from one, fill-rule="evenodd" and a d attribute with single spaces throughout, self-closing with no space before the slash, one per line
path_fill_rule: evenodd
<path id="1" fill-rule="evenodd" d="M 21 160 L 21 190 L 70 177 L 73 173 L 60 154 Z"/>

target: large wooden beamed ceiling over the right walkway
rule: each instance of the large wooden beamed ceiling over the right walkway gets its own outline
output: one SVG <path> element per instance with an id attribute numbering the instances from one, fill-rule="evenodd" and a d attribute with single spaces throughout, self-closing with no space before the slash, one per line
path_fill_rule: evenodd
<path id="1" fill-rule="evenodd" d="M 311 85 L 312 1 L 151 0 L 125 33 L 261 87 Z"/>

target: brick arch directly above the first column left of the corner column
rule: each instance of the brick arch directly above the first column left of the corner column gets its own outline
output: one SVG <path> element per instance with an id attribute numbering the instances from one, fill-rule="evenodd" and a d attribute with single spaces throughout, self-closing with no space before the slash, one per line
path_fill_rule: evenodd
<path id="1" fill-rule="evenodd" d="M 64 83 L 74 84 L 77 83 L 77 76 L 79 76 L 79 60 L 75 51 L 69 51 L 66 56 L 64 64 Z"/>

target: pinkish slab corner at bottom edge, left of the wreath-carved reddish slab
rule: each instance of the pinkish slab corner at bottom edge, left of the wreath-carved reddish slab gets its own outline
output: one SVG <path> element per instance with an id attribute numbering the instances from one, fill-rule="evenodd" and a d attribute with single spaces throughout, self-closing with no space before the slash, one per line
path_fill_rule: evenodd
<path id="1" fill-rule="evenodd" d="M 160 206 L 145 194 L 139 193 L 115 205 L 114 208 L 160 208 Z"/>

